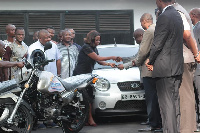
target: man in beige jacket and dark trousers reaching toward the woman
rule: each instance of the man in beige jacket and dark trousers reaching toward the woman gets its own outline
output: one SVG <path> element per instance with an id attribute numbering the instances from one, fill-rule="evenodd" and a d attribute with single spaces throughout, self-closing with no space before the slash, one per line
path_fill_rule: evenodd
<path id="1" fill-rule="evenodd" d="M 145 61 L 147 60 L 150 48 L 154 38 L 155 24 L 153 24 L 153 17 L 149 13 L 144 13 L 140 18 L 141 26 L 145 30 L 143 39 L 140 44 L 138 54 L 135 59 L 128 63 L 121 64 L 118 68 L 128 69 L 129 67 L 138 66 L 141 69 L 141 78 L 145 90 L 147 115 L 149 119 L 149 127 L 139 129 L 138 131 L 153 131 L 161 128 L 161 116 L 157 98 L 155 79 L 152 78 L 152 72 L 148 71 Z"/>

